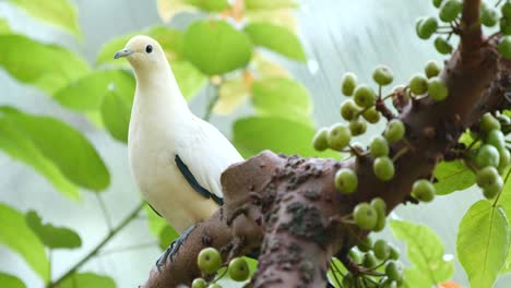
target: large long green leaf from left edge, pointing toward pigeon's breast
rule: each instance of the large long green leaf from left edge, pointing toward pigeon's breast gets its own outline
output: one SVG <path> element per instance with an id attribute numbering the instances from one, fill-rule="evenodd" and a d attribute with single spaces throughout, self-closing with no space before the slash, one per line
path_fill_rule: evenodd
<path id="1" fill-rule="evenodd" d="M 5 149 L 7 146 L 8 153 L 13 149 L 13 143 L 23 142 L 17 139 L 22 137 L 51 160 L 71 182 L 93 191 L 104 190 L 110 183 L 110 175 L 94 146 L 69 124 L 55 118 L 31 116 L 13 108 L 0 107 L 0 128 L 20 132 L 14 134 L 15 139 L 1 139 L 5 143 L 0 142 L 0 148 Z M 19 158 L 35 166 L 26 157 Z"/>

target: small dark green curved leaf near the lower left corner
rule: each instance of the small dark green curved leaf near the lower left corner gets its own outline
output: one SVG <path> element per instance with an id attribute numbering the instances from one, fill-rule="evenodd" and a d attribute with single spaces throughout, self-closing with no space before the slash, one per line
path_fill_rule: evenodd
<path id="1" fill-rule="evenodd" d="M 43 243 L 51 249 L 59 248 L 80 248 L 82 239 L 80 236 L 69 229 L 62 227 L 55 227 L 51 224 L 43 224 L 39 215 L 35 211 L 29 211 L 25 215 L 25 220 L 28 227 L 39 237 Z"/>

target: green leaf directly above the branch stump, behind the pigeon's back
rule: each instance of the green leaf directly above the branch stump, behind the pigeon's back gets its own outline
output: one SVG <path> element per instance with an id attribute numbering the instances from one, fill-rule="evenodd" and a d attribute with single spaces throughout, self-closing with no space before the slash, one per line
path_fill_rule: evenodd
<path id="1" fill-rule="evenodd" d="M 299 154 L 304 157 L 320 156 L 340 158 L 336 152 L 317 152 L 312 147 L 314 129 L 277 117 L 241 118 L 234 124 L 236 148 L 245 158 L 264 149 L 275 153 Z"/>

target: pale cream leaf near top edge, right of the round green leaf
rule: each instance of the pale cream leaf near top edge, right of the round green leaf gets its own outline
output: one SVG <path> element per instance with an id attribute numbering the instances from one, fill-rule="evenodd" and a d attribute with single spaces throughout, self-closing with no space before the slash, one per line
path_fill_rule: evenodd
<path id="1" fill-rule="evenodd" d="M 245 13 L 249 22 L 265 22 L 282 26 L 296 34 L 297 20 L 289 9 L 280 10 L 249 10 Z"/>

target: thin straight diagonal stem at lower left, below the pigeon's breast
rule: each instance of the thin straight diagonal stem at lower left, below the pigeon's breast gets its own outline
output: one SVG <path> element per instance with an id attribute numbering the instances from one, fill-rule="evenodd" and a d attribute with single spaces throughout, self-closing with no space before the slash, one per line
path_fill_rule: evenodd
<path id="1" fill-rule="evenodd" d="M 55 281 L 50 281 L 46 287 L 47 288 L 54 288 L 57 287 L 60 283 L 62 283 L 64 279 L 67 279 L 69 276 L 71 276 L 76 269 L 79 269 L 83 264 L 87 263 L 92 257 L 94 257 L 99 250 L 105 247 L 111 238 L 114 238 L 120 230 L 122 230 L 128 224 L 133 220 L 136 215 L 142 211 L 144 207 L 145 202 L 141 202 L 122 221 L 111 229 L 108 235 L 100 241 L 91 252 L 88 252 L 81 261 L 79 261 L 74 266 L 72 266 L 68 272 L 66 272 L 60 278 L 58 278 Z"/>

